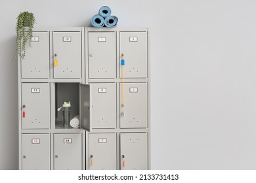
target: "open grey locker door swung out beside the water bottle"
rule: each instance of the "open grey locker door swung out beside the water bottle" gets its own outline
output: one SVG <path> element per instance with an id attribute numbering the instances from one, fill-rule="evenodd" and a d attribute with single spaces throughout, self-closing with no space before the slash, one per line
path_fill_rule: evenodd
<path id="1" fill-rule="evenodd" d="M 91 131 L 92 92 L 89 84 L 80 84 L 80 128 Z"/>

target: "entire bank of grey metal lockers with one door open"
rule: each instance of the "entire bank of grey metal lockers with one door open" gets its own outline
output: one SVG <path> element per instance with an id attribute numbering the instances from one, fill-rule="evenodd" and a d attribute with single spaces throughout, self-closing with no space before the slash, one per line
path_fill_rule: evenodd
<path id="1" fill-rule="evenodd" d="M 150 169 L 148 48 L 148 28 L 35 27 L 18 57 L 19 169 Z M 79 127 L 62 125 L 64 101 Z"/>

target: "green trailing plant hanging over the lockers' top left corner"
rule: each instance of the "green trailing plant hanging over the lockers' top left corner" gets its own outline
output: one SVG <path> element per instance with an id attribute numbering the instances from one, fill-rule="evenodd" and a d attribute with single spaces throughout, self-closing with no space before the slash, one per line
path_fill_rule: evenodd
<path id="1" fill-rule="evenodd" d="M 16 23 L 16 49 L 18 56 L 25 58 L 27 43 L 31 46 L 32 29 L 35 25 L 35 17 L 32 12 L 21 12 Z M 26 29 L 28 27 L 28 30 Z"/>

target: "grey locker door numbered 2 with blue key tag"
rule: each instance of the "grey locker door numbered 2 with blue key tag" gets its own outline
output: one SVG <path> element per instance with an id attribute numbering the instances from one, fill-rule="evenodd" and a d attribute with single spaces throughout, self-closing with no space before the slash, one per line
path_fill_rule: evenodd
<path id="1" fill-rule="evenodd" d="M 125 59 L 125 78 L 147 78 L 148 34 L 146 32 L 121 32 L 120 56 L 121 54 L 124 54 Z"/>

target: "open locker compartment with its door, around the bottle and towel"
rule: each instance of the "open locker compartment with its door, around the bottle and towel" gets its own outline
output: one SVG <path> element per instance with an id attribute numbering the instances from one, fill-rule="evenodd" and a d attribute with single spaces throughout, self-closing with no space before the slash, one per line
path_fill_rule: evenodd
<path id="1" fill-rule="evenodd" d="M 54 112 L 56 129 L 84 129 L 91 130 L 91 86 L 81 83 L 59 82 L 54 84 Z M 70 120 L 79 115 L 79 127 L 64 127 L 62 107 L 64 101 L 71 104 Z"/>

